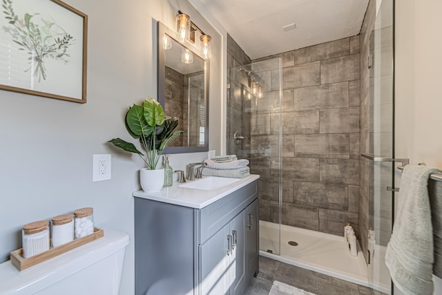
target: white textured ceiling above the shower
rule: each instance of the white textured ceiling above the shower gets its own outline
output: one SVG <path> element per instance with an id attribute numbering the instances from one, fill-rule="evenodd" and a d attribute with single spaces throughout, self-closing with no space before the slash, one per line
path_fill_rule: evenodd
<path id="1" fill-rule="evenodd" d="M 251 59 L 358 35 L 368 0 L 193 0 Z M 282 27 L 296 23 L 296 28 Z"/>

